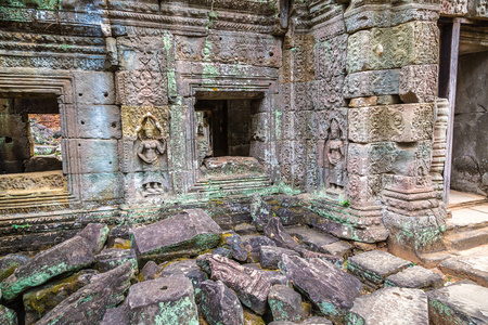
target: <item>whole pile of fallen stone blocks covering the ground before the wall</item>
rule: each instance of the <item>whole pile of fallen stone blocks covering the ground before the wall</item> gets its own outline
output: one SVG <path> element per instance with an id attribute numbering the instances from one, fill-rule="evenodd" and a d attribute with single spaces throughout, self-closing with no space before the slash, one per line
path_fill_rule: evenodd
<path id="1" fill-rule="evenodd" d="M 488 288 L 280 218 L 223 232 L 184 210 L 128 233 L 88 224 L 0 260 L 0 324 L 481 324 Z M 329 253 L 326 253 L 329 252 Z M 332 253 L 331 253 L 332 252 Z"/>

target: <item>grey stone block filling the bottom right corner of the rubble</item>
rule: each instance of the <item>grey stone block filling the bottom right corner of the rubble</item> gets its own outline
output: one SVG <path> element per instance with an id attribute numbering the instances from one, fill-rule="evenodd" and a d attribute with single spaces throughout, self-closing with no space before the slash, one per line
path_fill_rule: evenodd
<path id="1" fill-rule="evenodd" d="M 488 288 L 462 281 L 427 292 L 433 325 L 488 324 Z"/>

